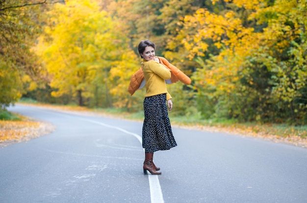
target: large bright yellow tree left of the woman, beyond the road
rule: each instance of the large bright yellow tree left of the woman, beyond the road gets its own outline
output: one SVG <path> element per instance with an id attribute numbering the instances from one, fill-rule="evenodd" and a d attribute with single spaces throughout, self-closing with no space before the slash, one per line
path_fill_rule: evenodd
<path id="1" fill-rule="evenodd" d="M 128 86 L 131 66 L 137 65 L 119 25 L 93 0 L 55 4 L 49 15 L 35 49 L 51 74 L 52 96 L 69 95 L 79 105 L 102 107 L 125 100 L 127 88 L 121 85 Z"/>

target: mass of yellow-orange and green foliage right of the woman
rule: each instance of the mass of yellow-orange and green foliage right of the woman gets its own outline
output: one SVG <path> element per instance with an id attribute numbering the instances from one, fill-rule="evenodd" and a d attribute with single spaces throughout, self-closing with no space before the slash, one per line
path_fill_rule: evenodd
<path id="1" fill-rule="evenodd" d="M 234 3 L 256 9 L 249 18 L 267 27 L 256 32 L 232 11 L 199 9 L 185 17 L 178 35 L 201 65 L 193 74 L 198 105 L 205 99 L 209 107 L 200 110 L 206 118 L 306 123 L 306 2 Z M 268 13 L 275 15 L 264 18 Z M 213 49 L 219 51 L 212 55 Z"/>

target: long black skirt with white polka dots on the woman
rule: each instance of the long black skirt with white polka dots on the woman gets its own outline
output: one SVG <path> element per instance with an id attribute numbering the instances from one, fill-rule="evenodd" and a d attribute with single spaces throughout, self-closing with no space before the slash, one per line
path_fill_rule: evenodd
<path id="1" fill-rule="evenodd" d="M 145 119 L 142 145 L 146 153 L 169 150 L 177 146 L 166 106 L 166 94 L 144 99 Z"/>

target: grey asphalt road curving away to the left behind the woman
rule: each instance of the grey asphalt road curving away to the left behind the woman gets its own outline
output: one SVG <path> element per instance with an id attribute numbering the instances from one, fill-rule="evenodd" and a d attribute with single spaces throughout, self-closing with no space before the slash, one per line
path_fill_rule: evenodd
<path id="1" fill-rule="evenodd" d="M 307 203 L 307 149 L 173 127 L 143 175 L 142 123 L 17 105 L 56 126 L 0 148 L 0 203 Z"/>

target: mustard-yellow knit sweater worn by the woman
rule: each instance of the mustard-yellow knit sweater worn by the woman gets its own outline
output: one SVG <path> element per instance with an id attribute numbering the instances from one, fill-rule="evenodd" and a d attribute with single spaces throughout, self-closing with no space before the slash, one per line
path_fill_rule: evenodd
<path id="1" fill-rule="evenodd" d="M 171 72 L 162 64 L 155 61 L 143 59 L 142 69 L 145 77 L 146 94 L 145 97 L 166 93 L 166 100 L 172 99 L 167 92 L 165 79 L 171 78 Z"/>

